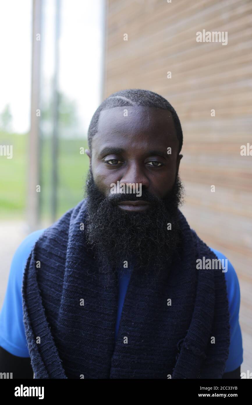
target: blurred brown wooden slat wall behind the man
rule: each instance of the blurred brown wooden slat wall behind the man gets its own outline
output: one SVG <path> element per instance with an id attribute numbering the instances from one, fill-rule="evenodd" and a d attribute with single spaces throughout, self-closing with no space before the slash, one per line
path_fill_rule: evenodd
<path id="1" fill-rule="evenodd" d="M 197 43 L 203 29 L 227 31 L 228 44 Z M 252 371 L 252 156 L 240 154 L 241 145 L 252 145 L 251 49 L 251 0 L 107 1 L 104 98 L 142 88 L 176 109 L 184 134 L 182 212 L 239 278 L 242 371 Z"/>

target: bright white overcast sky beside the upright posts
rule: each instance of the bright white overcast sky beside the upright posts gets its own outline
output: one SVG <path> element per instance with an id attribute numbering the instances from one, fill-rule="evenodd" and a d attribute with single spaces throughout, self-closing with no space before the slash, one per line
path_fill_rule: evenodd
<path id="1" fill-rule="evenodd" d="M 61 0 L 59 88 L 76 100 L 87 131 L 101 99 L 104 0 Z M 44 0 L 43 74 L 53 72 L 54 0 Z M 43 35 L 43 34 L 42 34 Z M 32 0 L 0 0 L 0 113 L 10 104 L 13 130 L 30 128 Z"/>

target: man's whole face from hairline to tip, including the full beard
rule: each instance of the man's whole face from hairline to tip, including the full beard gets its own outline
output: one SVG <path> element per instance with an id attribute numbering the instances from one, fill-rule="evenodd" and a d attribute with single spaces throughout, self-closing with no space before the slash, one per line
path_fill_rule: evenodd
<path id="1" fill-rule="evenodd" d="M 87 151 L 88 241 L 105 272 L 123 270 L 127 260 L 139 271 L 159 273 L 179 241 L 182 155 L 169 111 L 127 107 L 126 117 L 124 111 L 102 111 L 92 156 Z M 142 195 L 111 194 L 111 184 L 117 182 L 141 185 Z"/>

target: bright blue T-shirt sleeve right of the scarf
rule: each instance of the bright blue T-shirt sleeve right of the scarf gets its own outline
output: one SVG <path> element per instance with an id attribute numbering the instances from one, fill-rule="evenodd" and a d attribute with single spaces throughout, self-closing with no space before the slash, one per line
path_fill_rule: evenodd
<path id="1" fill-rule="evenodd" d="M 239 325 L 239 309 L 240 309 L 240 287 L 237 274 L 231 262 L 218 250 L 211 250 L 216 254 L 218 259 L 227 260 L 227 269 L 224 272 L 227 282 L 227 295 L 229 300 L 229 314 L 230 314 L 230 346 L 229 357 L 226 362 L 225 373 L 229 373 L 237 369 L 243 362 L 243 348 L 241 328 Z"/>

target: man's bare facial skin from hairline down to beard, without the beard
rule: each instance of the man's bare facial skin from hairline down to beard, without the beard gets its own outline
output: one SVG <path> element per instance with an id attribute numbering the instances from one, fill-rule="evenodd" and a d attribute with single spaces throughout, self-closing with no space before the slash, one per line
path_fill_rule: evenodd
<path id="1" fill-rule="evenodd" d="M 128 115 L 124 116 L 126 109 Z M 167 110 L 136 106 L 103 110 L 92 140 L 95 184 L 109 196 L 111 183 L 141 183 L 142 188 L 163 198 L 174 185 L 182 158 L 178 145 L 172 114 Z"/>

